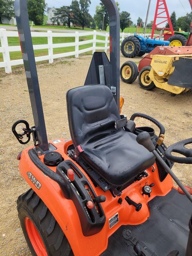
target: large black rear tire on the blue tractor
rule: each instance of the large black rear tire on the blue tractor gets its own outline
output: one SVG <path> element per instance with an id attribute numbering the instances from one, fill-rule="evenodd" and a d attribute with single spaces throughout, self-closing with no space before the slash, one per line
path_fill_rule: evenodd
<path id="1" fill-rule="evenodd" d="M 134 58 L 140 52 L 140 42 L 135 36 L 128 36 L 121 44 L 121 52 L 126 58 Z"/>

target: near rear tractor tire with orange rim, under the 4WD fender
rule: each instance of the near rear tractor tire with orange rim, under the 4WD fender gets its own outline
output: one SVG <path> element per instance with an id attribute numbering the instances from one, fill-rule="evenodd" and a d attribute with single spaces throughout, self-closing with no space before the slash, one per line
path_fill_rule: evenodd
<path id="1" fill-rule="evenodd" d="M 74 255 L 59 224 L 32 189 L 18 197 L 17 210 L 23 234 L 33 256 Z"/>

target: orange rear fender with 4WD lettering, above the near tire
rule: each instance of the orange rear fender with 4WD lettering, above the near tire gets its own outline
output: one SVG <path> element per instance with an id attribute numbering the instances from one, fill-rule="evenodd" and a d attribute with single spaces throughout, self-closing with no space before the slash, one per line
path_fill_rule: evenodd
<path id="1" fill-rule="evenodd" d="M 69 241 L 74 255 L 92 255 L 93 248 L 97 248 L 94 255 L 100 255 L 107 248 L 107 236 L 105 235 L 105 239 L 100 239 L 100 233 L 89 237 L 83 235 L 73 201 L 66 199 L 59 185 L 34 165 L 28 154 L 29 149 L 31 148 L 23 150 L 21 154 L 19 161 L 20 174 L 53 214 Z M 104 233 L 106 232 L 105 228 L 106 226 L 103 228 Z"/>

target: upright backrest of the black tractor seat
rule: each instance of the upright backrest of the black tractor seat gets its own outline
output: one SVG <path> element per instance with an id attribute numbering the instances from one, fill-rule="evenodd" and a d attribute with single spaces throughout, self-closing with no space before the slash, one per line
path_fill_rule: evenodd
<path id="1" fill-rule="evenodd" d="M 67 92 L 67 112 L 74 146 L 115 132 L 120 114 L 111 90 L 105 85 L 86 85 Z"/>

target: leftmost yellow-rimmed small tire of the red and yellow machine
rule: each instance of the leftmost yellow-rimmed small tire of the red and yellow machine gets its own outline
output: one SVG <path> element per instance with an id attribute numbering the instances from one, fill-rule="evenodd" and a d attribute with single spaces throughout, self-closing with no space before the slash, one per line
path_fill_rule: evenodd
<path id="1" fill-rule="evenodd" d="M 139 71 L 135 62 L 126 61 L 120 69 L 120 77 L 124 83 L 132 84 L 138 77 Z"/>

